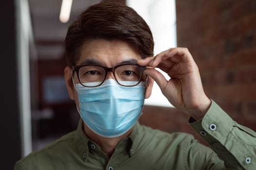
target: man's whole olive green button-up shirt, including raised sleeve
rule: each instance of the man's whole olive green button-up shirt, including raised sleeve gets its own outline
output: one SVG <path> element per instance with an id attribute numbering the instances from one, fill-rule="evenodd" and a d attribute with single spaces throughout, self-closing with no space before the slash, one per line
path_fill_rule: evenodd
<path id="1" fill-rule="evenodd" d="M 193 121 L 190 119 L 190 121 Z M 211 146 L 185 133 L 136 123 L 109 158 L 78 129 L 18 161 L 14 170 L 256 170 L 256 133 L 233 121 L 215 102 L 190 123 Z"/>

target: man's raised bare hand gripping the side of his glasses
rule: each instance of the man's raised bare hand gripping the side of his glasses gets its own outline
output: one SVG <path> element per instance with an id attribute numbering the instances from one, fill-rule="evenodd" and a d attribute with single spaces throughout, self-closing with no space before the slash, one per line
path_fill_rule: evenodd
<path id="1" fill-rule="evenodd" d="M 172 48 L 142 59 L 138 64 L 149 67 L 144 72 L 157 82 L 172 105 L 196 120 L 205 115 L 211 101 L 203 91 L 197 64 L 187 48 Z M 166 80 L 154 68 L 160 68 L 171 79 Z"/>

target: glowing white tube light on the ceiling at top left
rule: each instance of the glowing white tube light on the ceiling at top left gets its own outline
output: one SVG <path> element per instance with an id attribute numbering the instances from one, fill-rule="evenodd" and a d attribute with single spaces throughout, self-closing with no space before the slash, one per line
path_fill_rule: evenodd
<path id="1" fill-rule="evenodd" d="M 63 23 L 66 23 L 69 20 L 72 1 L 73 0 L 62 0 L 59 20 Z"/>

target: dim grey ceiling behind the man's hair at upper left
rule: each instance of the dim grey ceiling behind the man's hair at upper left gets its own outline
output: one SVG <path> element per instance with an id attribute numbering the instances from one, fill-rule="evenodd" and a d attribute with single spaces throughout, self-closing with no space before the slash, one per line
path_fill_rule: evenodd
<path id="1" fill-rule="evenodd" d="M 88 6 L 101 0 L 73 0 L 70 19 L 59 21 L 62 0 L 28 0 L 38 59 L 58 59 L 63 56 L 64 39 L 68 25 Z"/>

